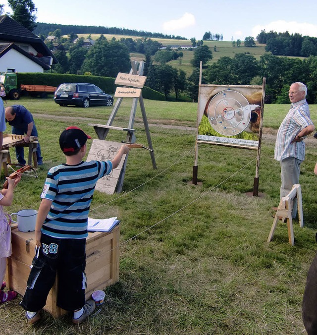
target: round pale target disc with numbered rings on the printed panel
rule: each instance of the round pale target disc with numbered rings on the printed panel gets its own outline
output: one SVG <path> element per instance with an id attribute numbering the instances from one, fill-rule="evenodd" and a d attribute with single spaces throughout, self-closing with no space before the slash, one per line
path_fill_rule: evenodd
<path id="1" fill-rule="evenodd" d="M 211 127 L 225 136 L 241 133 L 249 124 L 251 108 L 248 100 L 236 91 L 222 91 L 216 94 L 208 106 Z"/>

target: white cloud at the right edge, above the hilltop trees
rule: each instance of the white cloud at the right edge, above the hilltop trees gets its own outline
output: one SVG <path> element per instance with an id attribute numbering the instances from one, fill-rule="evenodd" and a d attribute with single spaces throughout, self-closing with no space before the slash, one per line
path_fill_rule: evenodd
<path id="1" fill-rule="evenodd" d="M 266 25 L 257 25 L 252 28 L 252 36 L 256 37 L 264 30 L 268 33 L 273 30 L 277 33 L 288 31 L 290 34 L 299 33 L 302 36 L 317 37 L 317 25 L 311 23 L 299 23 L 296 21 L 278 20 L 270 22 Z"/>

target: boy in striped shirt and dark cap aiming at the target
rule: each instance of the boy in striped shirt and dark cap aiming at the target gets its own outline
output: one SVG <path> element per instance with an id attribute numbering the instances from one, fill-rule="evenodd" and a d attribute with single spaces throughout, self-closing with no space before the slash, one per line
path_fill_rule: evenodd
<path id="1" fill-rule="evenodd" d="M 130 149 L 122 145 L 111 162 L 84 162 L 88 138 L 78 127 L 66 128 L 59 137 L 66 164 L 51 168 L 45 181 L 35 226 L 36 246 L 41 249 L 20 303 L 30 324 L 40 319 L 56 271 L 57 306 L 74 311 L 73 323 L 80 324 L 96 308 L 92 299 L 85 302 L 88 213 L 98 179 L 116 168 Z"/>

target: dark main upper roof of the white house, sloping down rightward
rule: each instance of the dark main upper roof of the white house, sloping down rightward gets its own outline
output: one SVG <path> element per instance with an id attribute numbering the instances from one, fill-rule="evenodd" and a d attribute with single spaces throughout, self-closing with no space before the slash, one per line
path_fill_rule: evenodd
<path id="1" fill-rule="evenodd" d="M 34 35 L 30 30 L 26 29 L 7 15 L 0 16 L 0 41 L 8 43 L 18 42 L 30 44 L 38 53 L 42 54 L 43 56 L 52 57 L 53 64 L 58 63 L 58 60 L 51 53 L 50 49 L 42 39 Z"/>

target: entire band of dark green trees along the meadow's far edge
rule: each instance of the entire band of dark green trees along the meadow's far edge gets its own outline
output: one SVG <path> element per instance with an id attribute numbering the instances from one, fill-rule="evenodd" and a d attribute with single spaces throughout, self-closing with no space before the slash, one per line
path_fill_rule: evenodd
<path id="1" fill-rule="evenodd" d="M 75 37 L 76 34 L 69 35 L 70 40 Z M 308 87 L 308 102 L 317 103 L 317 56 L 301 60 L 265 53 L 257 60 L 255 56 L 246 52 L 237 53 L 233 58 L 220 57 L 207 66 L 208 61 L 212 59 L 212 52 L 208 46 L 201 45 L 193 50 L 193 72 L 187 77 L 183 70 L 168 64 L 173 59 L 179 59 L 181 63 L 183 53 L 170 48 L 161 50 L 161 43 L 150 38 L 112 38 L 107 41 L 104 35 L 101 35 L 89 49 L 84 47 L 83 43 L 84 39 L 80 38 L 76 43 L 68 41 L 68 44 L 61 44 L 54 53 L 59 62 L 54 65 L 53 71 L 116 77 L 118 72 L 130 70 L 129 54 L 131 51 L 138 51 L 144 54 L 147 86 L 163 93 L 166 99 L 174 92 L 176 99 L 185 95 L 192 101 L 197 101 L 199 66 L 202 61 L 204 84 L 262 85 L 262 79 L 265 77 L 265 102 L 285 104 L 289 103 L 289 85 L 295 81 L 302 81 Z"/>

